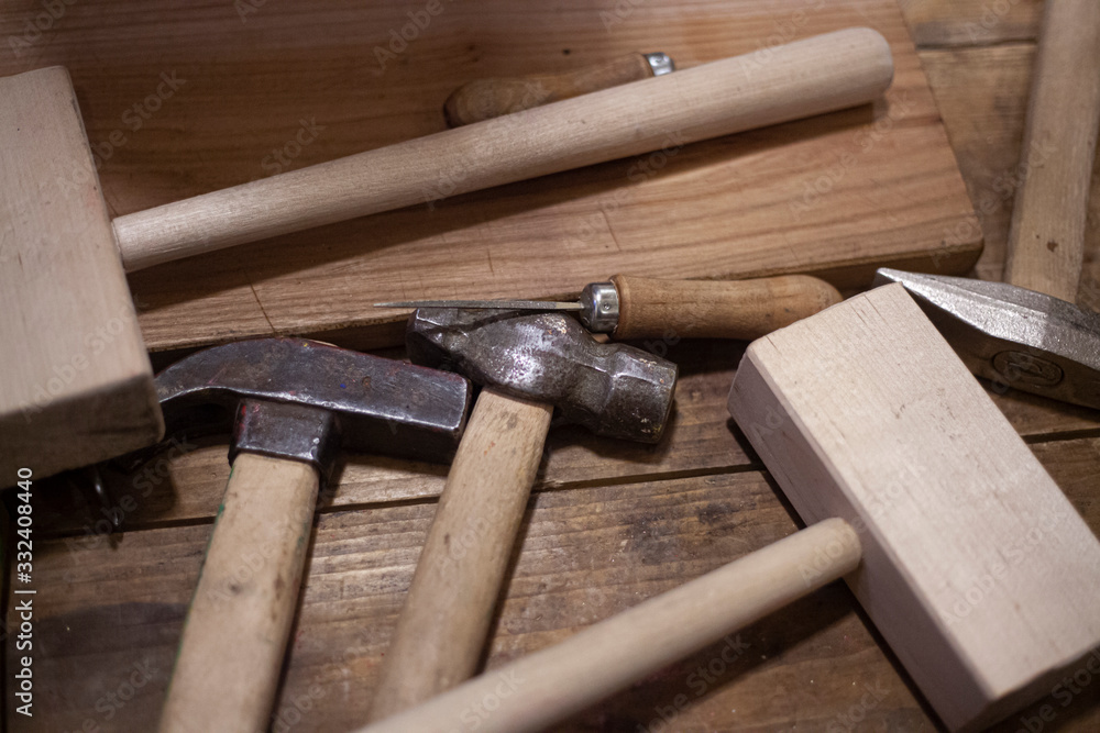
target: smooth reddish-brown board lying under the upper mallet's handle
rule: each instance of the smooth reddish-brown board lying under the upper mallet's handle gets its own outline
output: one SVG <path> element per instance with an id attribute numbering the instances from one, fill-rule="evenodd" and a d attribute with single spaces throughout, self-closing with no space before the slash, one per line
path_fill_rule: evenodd
<path id="1" fill-rule="evenodd" d="M 386 48 L 410 9 L 380 2 L 353 12 L 330 0 L 189 13 L 154 3 L 147 12 L 172 19 L 161 27 L 101 0 L 67 7 L 42 40 L 0 59 L 0 74 L 72 68 L 108 202 L 122 214 L 442 130 L 443 99 L 475 77 L 639 48 L 686 68 L 850 25 L 891 43 L 894 86 L 873 109 L 684 147 L 670 140 L 660 156 L 136 274 L 153 349 L 271 333 L 392 343 L 398 316 L 373 302 L 561 296 L 615 273 L 798 270 L 850 286 L 868 282 L 876 265 L 968 269 L 980 232 L 946 234 L 971 209 L 897 5 L 805 5 L 444 3 L 404 52 L 380 62 L 374 48 Z M 37 12 L 28 0 L 8 3 L 0 30 L 15 33 Z"/>

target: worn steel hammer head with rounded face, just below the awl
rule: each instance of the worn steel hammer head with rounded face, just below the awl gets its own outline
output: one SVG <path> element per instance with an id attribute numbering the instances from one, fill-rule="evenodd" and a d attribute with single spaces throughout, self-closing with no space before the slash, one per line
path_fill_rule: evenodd
<path id="1" fill-rule="evenodd" d="M 566 421 L 608 437 L 658 442 L 675 392 L 674 364 L 602 344 L 561 313 L 419 309 L 406 343 L 415 364 L 553 404 Z"/>

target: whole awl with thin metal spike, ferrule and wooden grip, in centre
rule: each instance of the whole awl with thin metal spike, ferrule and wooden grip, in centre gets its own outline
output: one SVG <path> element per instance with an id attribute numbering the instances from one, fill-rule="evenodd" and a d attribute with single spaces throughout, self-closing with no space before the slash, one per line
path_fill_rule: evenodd
<path id="1" fill-rule="evenodd" d="M 375 308 L 571 311 L 593 333 L 616 338 L 746 338 L 840 302 L 828 282 L 809 275 L 749 280 L 660 280 L 616 275 L 591 282 L 576 302 L 547 300 L 408 300 Z"/>

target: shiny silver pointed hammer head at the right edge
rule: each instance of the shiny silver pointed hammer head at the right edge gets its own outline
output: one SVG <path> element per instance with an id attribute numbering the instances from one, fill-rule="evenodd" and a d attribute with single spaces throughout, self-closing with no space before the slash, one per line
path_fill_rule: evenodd
<path id="1" fill-rule="evenodd" d="M 1005 282 L 880 268 L 900 282 L 974 374 L 1100 409 L 1100 315 Z"/>

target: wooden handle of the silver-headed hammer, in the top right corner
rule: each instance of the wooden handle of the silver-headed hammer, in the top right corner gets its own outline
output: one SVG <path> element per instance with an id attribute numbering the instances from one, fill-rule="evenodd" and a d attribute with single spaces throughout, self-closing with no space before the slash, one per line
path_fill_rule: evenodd
<path id="1" fill-rule="evenodd" d="M 1043 15 L 1004 280 L 1077 300 L 1100 127 L 1100 2 L 1052 0 Z"/>

